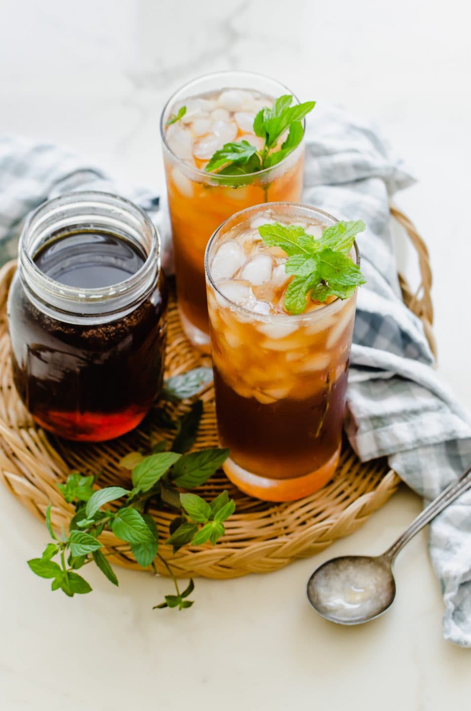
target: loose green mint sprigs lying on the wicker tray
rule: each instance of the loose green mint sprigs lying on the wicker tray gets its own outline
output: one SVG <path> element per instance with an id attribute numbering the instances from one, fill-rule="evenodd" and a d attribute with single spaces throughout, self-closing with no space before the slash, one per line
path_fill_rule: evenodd
<path id="1" fill-rule="evenodd" d="M 189 397 L 208 385 L 206 368 L 198 368 L 166 381 L 166 394 L 176 400 L 181 395 Z M 46 509 L 46 526 L 51 542 L 40 558 L 28 560 L 31 570 L 39 577 L 51 579 L 51 589 L 62 590 L 69 597 L 91 592 L 90 584 L 77 570 L 94 562 L 101 572 L 117 585 L 118 580 L 107 557 L 102 552 L 99 538 L 108 530 L 125 543 L 143 567 L 152 567 L 157 573 L 156 558 L 166 567 L 174 581 L 175 594 L 165 595 L 164 602 L 156 608 L 177 607 L 185 609 L 193 604 L 188 597 L 194 582 L 180 592 L 179 584 L 169 561 L 159 553 L 159 532 L 154 519 L 147 513 L 149 504 L 169 506 L 176 517 L 169 526 L 166 544 L 174 552 L 184 545 L 215 545 L 224 535 L 224 521 L 235 510 L 235 502 L 227 491 L 212 501 L 205 501 L 191 490 L 207 481 L 226 460 L 229 450 L 210 447 L 188 453 L 193 446 L 203 412 L 201 400 L 191 405 L 176 422 L 176 434 L 171 444 L 161 440 L 151 454 L 133 451 L 120 461 L 123 469 L 131 471 L 132 488 L 107 486 L 95 489 L 93 476 L 83 476 L 73 471 L 64 484 L 59 484 L 65 501 L 73 503 L 75 514 L 69 525 L 69 535 L 62 530 L 56 536 L 51 525 L 51 503 Z M 166 427 L 175 424 L 164 409 L 157 411 Z M 108 504 L 113 503 L 109 508 Z M 104 508 L 105 507 L 105 508 Z M 56 560 L 53 560 L 55 558 Z"/>

